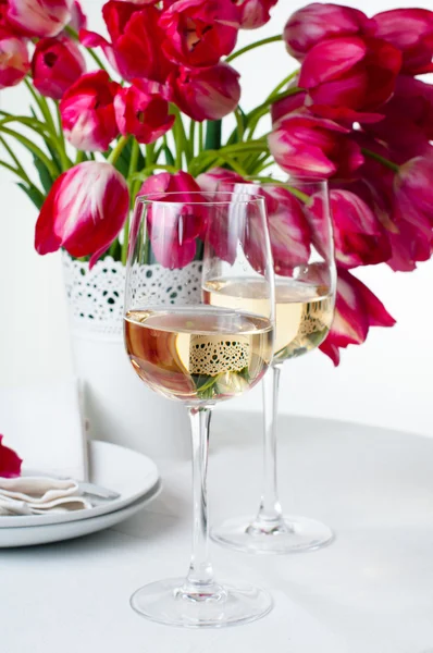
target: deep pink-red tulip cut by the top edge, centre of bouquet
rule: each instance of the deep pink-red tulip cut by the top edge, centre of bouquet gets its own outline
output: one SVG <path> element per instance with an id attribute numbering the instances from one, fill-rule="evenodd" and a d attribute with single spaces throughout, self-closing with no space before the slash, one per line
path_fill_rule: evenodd
<path id="1" fill-rule="evenodd" d="M 210 66 L 235 47 L 239 12 L 232 0 L 177 0 L 163 12 L 160 25 L 171 61 Z"/>

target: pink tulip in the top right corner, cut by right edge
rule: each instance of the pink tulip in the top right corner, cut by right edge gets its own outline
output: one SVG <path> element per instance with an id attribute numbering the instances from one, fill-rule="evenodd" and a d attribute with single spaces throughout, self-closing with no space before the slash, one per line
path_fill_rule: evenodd
<path id="1" fill-rule="evenodd" d="M 433 11 L 393 9 L 374 16 L 375 36 L 403 52 L 403 72 L 419 75 L 433 71 Z"/>

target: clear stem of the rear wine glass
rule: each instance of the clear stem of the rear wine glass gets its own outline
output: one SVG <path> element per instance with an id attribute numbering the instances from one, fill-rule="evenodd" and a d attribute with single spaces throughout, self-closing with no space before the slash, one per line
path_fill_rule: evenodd
<path id="1" fill-rule="evenodd" d="M 282 520 L 276 481 L 276 418 L 279 409 L 280 365 L 272 365 L 263 379 L 263 493 L 257 520 L 271 526 Z"/>

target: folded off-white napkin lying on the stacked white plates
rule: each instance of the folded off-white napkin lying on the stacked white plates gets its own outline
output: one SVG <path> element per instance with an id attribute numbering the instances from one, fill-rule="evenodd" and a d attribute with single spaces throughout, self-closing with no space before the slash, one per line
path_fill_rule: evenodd
<path id="1" fill-rule="evenodd" d="M 0 515 L 46 515 L 91 507 L 73 480 L 0 477 Z"/>

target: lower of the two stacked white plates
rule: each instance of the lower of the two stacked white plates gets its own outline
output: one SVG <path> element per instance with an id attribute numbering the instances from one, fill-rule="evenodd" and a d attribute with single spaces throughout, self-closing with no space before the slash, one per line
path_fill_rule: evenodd
<path id="1" fill-rule="evenodd" d="M 89 535 L 97 531 L 110 528 L 120 523 L 127 517 L 138 513 L 147 503 L 152 501 L 159 494 L 161 484 L 157 485 L 131 505 L 99 517 L 89 519 L 79 519 L 79 521 L 66 521 L 64 523 L 51 523 L 49 526 L 35 526 L 28 528 L 3 528 L 0 530 L 0 549 L 10 549 L 13 546 L 34 546 L 35 544 L 49 544 L 50 542 L 61 542 L 62 540 L 73 540 Z"/>

